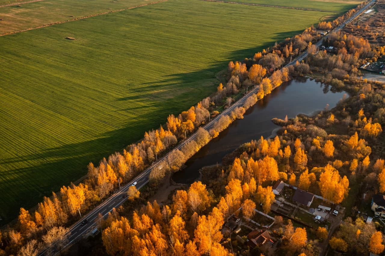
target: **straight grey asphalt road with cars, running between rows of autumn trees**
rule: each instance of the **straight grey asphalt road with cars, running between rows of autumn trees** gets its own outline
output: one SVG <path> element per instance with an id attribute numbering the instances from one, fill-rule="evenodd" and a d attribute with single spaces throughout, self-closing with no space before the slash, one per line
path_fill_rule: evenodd
<path id="1" fill-rule="evenodd" d="M 360 15 L 362 12 L 364 12 L 370 5 L 372 5 L 376 0 L 372 0 L 371 2 L 369 2 L 367 5 L 365 5 L 363 8 L 361 8 L 359 11 L 357 11 L 352 17 L 348 18 L 348 20 L 346 20 L 344 23 L 341 23 L 340 26 L 336 27 L 332 32 L 337 32 L 338 30 L 340 30 L 341 28 L 343 28 L 346 24 L 350 23 L 352 20 L 354 20 L 358 15 Z M 326 35 L 324 38 L 327 38 L 328 35 Z M 316 46 L 317 47 L 320 47 L 321 44 L 322 44 L 322 41 L 323 39 L 321 39 L 320 41 L 318 41 L 316 43 Z M 298 60 L 299 62 L 301 62 L 306 56 L 308 55 L 307 51 L 305 51 L 304 53 L 302 53 L 299 57 L 297 57 L 295 60 L 293 60 L 292 62 L 288 63 L 287 65 L 285 65 L 285 67 L 287 66 L 290 66 L 290 65 L 293 65 L 296 63 L 296 61 Z M 248 96 L 250 96 L 251 94 L 253 93 L 256 93 L 257 90 L 258 90 L 259 86 L 256 86 L 254 87 L 253 89 L 251 89 L 249 91 L 248 94 L 244 95 L 242 98 L 240 98 L 238 101 L 236 101 L 235 103 L 233 103 L 233 105 L 231 105 L 229 108 L 227 108 L 226 110 L 224 110 L 222 113 L 220 113 L 218 116 L 216 116 L 213 120 L 211 120 L 209 123 L 207 123 L 206 125 L 203 126 L 204 129 L 206 130 L 210 130 L 211 128 L 213 128 L 213 125 L 214 123 L 219 120 L 219 118 L 221 118 L 221 116 L 224 116 L 226 114 L 229 114 L 231 111 L 234 110 L 234 108 L 236 107 L 240 107 L 240 106 L 243 106 L 244 105 L 244 102 L 246 101 L 246 99 L 248 98 Z M 189 141 L 191 140 L 194 140 L 196 138 L 196 133 L 192 134 L 189 138 L 187 138 L 186 140 L 182 141 L 178 146 L 176 146 L 175 149 L 181 149 L 181 147 L 188 143 Z M 112 211 L 112 208 L 117 208 L 119 207 L 121 204 L 124 203 L 124 201 L 126 201 L 127 198 L 123 198 L 123 195 L 127 192 L 129 186 L 132 185 L 132 183 L 136 182 L 136 188 L 139 190 L 140 188 L 142 188 L 144 185 L 146 185 L 148 182 L 149 182 L 149 175 L 151 173 L 151 170 L 153 168 L 156 168 L 156 167 L 160 167 L 158 166 L 159 163 L 161 161 L 163 161 L 164 159 L 167 158 L 167 156 L 169 155 L 170 153 L 167 153 L 164 157 L 160 158 L 158 161 L 156 161 L 154 164 L 152 164 L 150 167 L 148 167 L 146 170 L 144 170 L 140 175 L 136 176 L 136 178 L 134 178 L 133 180 L 131 180 L 130 183 L 128 183 L 127 185 L 125 186 L 122 186 L 121 189 L 119 191 L 117 191 L 116 193 L 112 194 L 112 196 L 110 196 L 108 199 L 106 199 L 103 203 L 99 204 L 97 207 L 95 207 L 92 211 L 90 211 L 88 214 L 86 214 L 85 216 L 83 216 L 83 218 L 81 218 L 77 223 L 75 223 L 73 226 L 70 227 L 70 234 L 68 236 L 68 240 L 69 242 L 67 243 L 67 246 L 70 246 L 71 244 L 73 244 L 75 241 L 78 241 L 79 239 L 83 238 L 84 236 L 87 236 L 87 234 L 89 234 L 92 230 L 94 230 L 96 227 L 97 227 L 97 224 L 95 223 L 95 219 L 97 218 L 98 214 L 101 213 L 103 216 L 107 215 L 110 211 Z M 84 219 L 87 219 L 88 220 L 88 223 L 85 224 L 85 225 L 81 225 L 81 222 L 84 220 Z M 65 248 L 64 247 L 64 248 Z M 52 251 L 48 251 L 47 249 L 44 249 L 40 252 L 39 255 L 47 255 L 47 254 L 50 254 L 50 255 L 55 255 L 57 254 L 58 252 L 52 252 Z"/>

